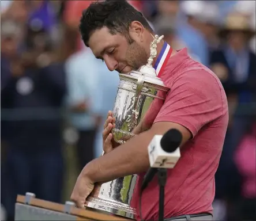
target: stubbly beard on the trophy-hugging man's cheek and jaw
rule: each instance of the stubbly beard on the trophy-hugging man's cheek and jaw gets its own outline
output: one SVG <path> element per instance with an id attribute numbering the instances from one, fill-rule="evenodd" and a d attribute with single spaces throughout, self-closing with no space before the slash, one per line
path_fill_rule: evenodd
<path id="1" fill-rule="evenodd" d="M 129 39 L 129 47 L 126 51 L 126 62 L 132 70 L 138 70 L 148 61 L 148 54 L 145 49 L 136 41 Z"/>

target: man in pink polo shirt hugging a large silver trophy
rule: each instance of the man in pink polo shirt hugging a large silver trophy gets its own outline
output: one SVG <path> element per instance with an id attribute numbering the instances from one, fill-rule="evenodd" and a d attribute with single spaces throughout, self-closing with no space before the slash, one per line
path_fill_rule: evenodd
<path id="1" fill-rule="evenodd" d="M 109 70 L 119 73 L 128 73 L 146 63 L 155 34 L 142 14 L 129 3 L 114 0 L 90 5 L 81 17 L 80 32 L 96 58 L 104 60 Z M 153 63 L 156 59 L 167 59 L 163 62 L 165 66 L 155 67 L 171 89 L 163 106 L 151 108 L 138 128 L 141 133 L 114 150 L 110 131 L 115 124 L 111 113 L 108 115 L 103 131 L 107 154 L 89 162 L 78 177 L 71 194 L 78 207 L 84 207 L 95 182 L 139 174 L 131 206 L 137 209 L 137 220 L 156 220 L 159 203 L 156 177 L 142 195 L 142 217 L 138 210 L 141 182 L 149 169 L 147 147 L 154 135 L 176 128 L 183 136 L 181 158 L 168 171 L 164 218 L 186 220 L 181 218 L 187 215 L 188 220 L 212 220 L 214 174 L 228 124 L 227 98 L 219 79 L 192 60 L 186 48 L 180 51 L 170 48 L 163 53 L 164 44 L 161 41 L 157 45 L 158 58 Z M 160 58 L 160 54 L 166 56 Z"/>

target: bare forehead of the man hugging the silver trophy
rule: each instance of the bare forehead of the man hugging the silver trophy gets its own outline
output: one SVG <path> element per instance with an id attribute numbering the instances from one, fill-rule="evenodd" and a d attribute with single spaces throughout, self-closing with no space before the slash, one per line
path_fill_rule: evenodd
<path id="1" fill-rule="evenodd" d="M 119 33 L 116 35 L 111 35 L 108 28 L 103 27 L 92 33 L 88 45 L 91 48 L 93 54 L 96 57 L 99 57 L 103 54 L 105 49 L 117 47 L 125 43 L 127 43 L 125 36 L 122 36 Z"/>

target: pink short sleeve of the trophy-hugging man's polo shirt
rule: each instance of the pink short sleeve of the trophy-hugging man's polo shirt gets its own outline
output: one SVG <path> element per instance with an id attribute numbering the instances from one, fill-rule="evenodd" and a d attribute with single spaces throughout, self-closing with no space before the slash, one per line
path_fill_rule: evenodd
<path id="1" fill-rule="evenodd" d="M 154 123 L 178 123 L 194 137 L 205 124 L 223 115 L 223 95 L 220 82 L 212 74 L 188 71 L 172 83 Z"/>

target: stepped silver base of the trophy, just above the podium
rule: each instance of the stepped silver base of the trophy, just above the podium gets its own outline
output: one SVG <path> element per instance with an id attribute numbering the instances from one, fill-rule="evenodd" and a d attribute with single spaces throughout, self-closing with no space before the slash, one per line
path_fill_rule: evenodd
<path id="1" fill-rule="evenodd" d="M 124 216 L 126 218 L 135 219 L 135 209 L 125 203 L 119 203 L 114 200 L 101 199 L 99 197 L 88 197 L 86 200 L 89 208 L 98 209 L 110 214 Z"/>

